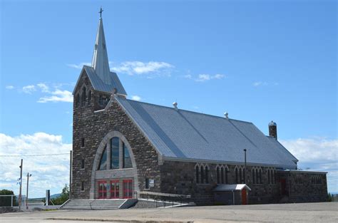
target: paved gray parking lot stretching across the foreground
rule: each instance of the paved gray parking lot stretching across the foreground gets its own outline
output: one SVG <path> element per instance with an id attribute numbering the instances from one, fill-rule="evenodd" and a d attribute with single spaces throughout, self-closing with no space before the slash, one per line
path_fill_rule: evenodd
<path id="1" fill-rule="evenodd" d="M 338 222 L 338 203 L 262 204 L 158 209 L 58 210 L 0 214 L 9 222 Z"/>

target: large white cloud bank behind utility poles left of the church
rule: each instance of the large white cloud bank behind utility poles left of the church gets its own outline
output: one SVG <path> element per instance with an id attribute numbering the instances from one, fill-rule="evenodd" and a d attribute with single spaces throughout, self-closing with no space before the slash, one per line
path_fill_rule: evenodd
<path id="1" fill-rule="evenodd" d="M 34 133 L 11 137 L 0 133 L 0 155 L 43 155 L 67 153 L 57 156 L 40 157 L 0 157 L 0 188 L 13 190 L 19 194 L 19 165 L 24 159 L 23 172 L 31 173 L 29 180 L 30 197 L 44 197 L 46 190 L 61 192 L 69 182 L 69 151 L 71 144 L 64 143 L 61 135 Z M 26 177 L 23 177 L 23 187 Z M 23 190 L 25 194 L 26 190 Z"/>

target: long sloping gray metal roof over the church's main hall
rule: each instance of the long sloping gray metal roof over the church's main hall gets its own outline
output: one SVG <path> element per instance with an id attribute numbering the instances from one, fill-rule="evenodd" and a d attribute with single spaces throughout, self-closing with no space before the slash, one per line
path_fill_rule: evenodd
<path id="1" fill-rule="evenodd" d="M 247 163 L 295 169 L 285 147 L 252 123 L 116 97 L 165 159 Z M 296 159 L 297 160 L 297 159 Z"/>

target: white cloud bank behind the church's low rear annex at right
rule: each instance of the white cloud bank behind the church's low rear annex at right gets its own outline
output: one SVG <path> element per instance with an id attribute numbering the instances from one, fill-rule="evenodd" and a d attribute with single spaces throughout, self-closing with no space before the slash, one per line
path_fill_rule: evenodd
<path id="1" fill-rule="evenodd" d="M 298 167 L 302 170 L 328 172 L 329 192 L 338 192 L 338 140 L 326 138 L 299 138 L 280 140 L 292 155 L 295 155 Z"/>

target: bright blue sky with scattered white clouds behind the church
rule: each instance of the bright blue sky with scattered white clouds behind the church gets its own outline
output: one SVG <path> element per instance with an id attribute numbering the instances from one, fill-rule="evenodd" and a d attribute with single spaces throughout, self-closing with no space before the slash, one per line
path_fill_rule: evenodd
<path id="1" fill-rule="evenodd" d="M 71 149 L 71 92 L 78 67 L 91 63 L 100 6 L 111 69 L 129 98 L 227 111 L 265 134 L 274 120 L 299 167 L 328 171 L 338 192 L 336 1 L 3 0 L 1 155 Z M 68 156 L 48 170 L 50 158 L 34 159 L 24 158 L 24 171 L 41 177 L 32 195 L 61 190 L 67 177 L 54 185 L 43 175 L 56 166 L 67 174 Z M 19 160 L 1 157 L 0 188 L 17 191 L 19 170 L 5 167 Z"/>

